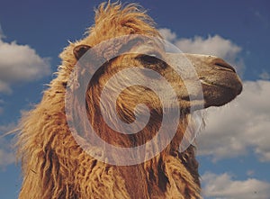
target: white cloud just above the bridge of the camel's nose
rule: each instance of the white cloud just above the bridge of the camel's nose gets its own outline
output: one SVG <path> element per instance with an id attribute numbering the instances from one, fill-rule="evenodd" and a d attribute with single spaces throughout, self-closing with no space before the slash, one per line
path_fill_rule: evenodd
<path id="1" fill-rule="evenodd" d="M 238 72 L 243 72 L 244 62 L 243 59 L 238 57 L 241 48 L 232 41 L 220 37 L 220 35 L 208 36 L 208 38 L 195 36 L 192 39 L 178 39 L 175 32 L 169 29 L 159 29 L 159 32 L 166 41 L 174 43 L 183 52 L 215 55 L 228 61 L 237 68 Z"/>

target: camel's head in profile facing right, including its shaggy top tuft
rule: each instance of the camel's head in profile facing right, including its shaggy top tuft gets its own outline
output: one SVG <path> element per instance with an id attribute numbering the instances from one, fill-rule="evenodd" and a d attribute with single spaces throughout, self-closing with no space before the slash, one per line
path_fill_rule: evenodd
<path id="1" fill-rule="evenodd" d="M 167 118 L 166 130 L 179 132 L 176 149 L 188 115 L 229 103 L 242 85 L 236 70 L 224 60 L 174 50 L 152 24 L 135 5 L 123 9 L 101 5 L 89 34 L 61 56 L 65 59 L 69 53 L 74 60 L 68 61 L 79 68 L 71 76 L 78 81 L 74 84 L 80 98 L 77 104 L 84 104 L 75 110 L 77 122 L 82 122 L 80 110 L 86 108 L 88 120 L 103 140 L 134 147 L 151 140 Z M 175 123 L 178 127 L 171 128 Z"/>

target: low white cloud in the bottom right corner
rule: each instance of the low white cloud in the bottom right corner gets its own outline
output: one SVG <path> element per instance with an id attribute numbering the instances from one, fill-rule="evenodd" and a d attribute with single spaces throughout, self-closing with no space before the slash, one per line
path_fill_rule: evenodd
<path id="1" fill-rule="evenodd" d="M 202 175 L 202 194 L 205 199 L 210 197 L 216 199 L 268 199 L 270 183 L 256 178 L 235 180 L 228 173 L 216 175 L 206 172 Z"/>

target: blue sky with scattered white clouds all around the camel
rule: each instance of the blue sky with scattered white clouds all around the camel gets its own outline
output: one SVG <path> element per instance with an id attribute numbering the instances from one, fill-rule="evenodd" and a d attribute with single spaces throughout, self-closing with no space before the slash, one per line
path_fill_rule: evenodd
<path id="1" fill-rule="evenodd" d="M 0 133 L 40 101 L 67 41 L 82 38 L 102 1 L 5 1 L 0 6 Z M 126 2 L 126 1 L 122 1 Z M 132 2 L 132 1 L 130 1 Z M 244 92 L 209 109 L 198 137 L 205 198 L 270 198 L 270 3 L 133 1 L 180 50 L 214 54 L 238 69 Z M 19 64 L 20 63 L 20 64 Z M 23 64 L 22 64 L 23 63 Z M 0 198 L 16 198 L 20 163 L 0 138 Z"/>

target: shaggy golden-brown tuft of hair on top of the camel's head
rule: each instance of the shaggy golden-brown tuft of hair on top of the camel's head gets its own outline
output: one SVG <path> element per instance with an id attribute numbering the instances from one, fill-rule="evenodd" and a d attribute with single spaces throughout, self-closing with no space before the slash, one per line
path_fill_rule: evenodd
<path id="1" fill-rule="evenodd" d="M 110 25 L 111 30 L 109 33 L 106 32 L 108 25 Z M 103 3 L 95 12 L 95 25 L 89 29 L 89 32 L 94 37 L 99 37 L 100 33 L 104 34 L 103 39 L 105 40 L 133 33 L 159 36 L 154 25 L 154 21 L 139 5 L 130 4 L 123 8 L 118 3 Z"/>

